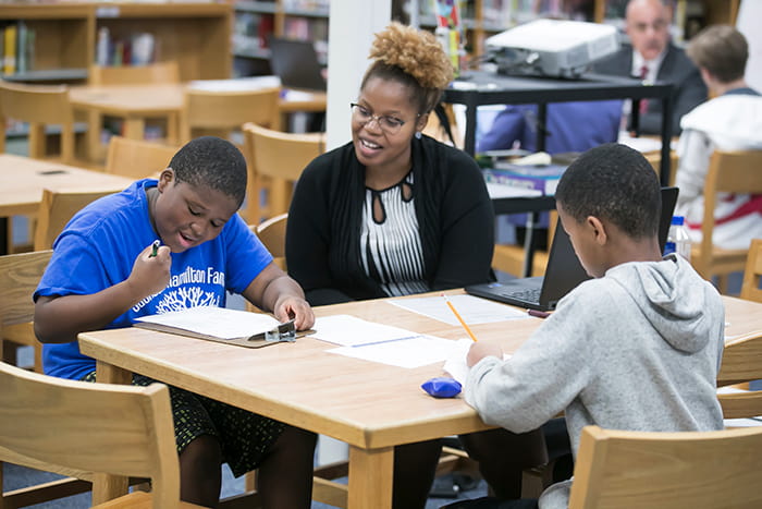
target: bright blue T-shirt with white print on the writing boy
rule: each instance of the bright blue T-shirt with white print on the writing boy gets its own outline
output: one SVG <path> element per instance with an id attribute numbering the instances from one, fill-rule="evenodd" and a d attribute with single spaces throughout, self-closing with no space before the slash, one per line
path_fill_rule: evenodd
<path id="1" fill-rule="evenodd" d="M 100 198 L 65 226 L 35 292 L 40 295 L 88 295 L 127 279 L 135 258 L 157 239 L 148 215 L 146 189 L 153 179 L 133 183 Z M 243 293 L 272 260 L 259 239 L 236 214 L 213 240 L 172 253 L 169 286 L 149 295 L 107 328 L 130 327 L 144 315 L 202 305 L 224 306 L 225 291 Z M 95 371 L 95 360 L 79 353 L 76 341 L 42 346 L 45 373 L 79 379 Z"/>

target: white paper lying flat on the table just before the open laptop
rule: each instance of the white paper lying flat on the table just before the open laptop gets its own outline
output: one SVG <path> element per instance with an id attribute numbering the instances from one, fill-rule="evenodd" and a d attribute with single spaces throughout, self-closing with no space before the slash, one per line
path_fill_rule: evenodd
<path id="1" fill-rule="evenodd" d="M 453 303 L 463 320 L 468 325 L 529 318 L 526 312 L 474 295 L 447 295 L 447 299 L 450 299 L 450 302 Z M 447 325 L 460 325 L 450 306 L 447 306 L 447 301 L 442 296 L 394 299 L 389 302 L 413 313 L 444 322 Z"/>

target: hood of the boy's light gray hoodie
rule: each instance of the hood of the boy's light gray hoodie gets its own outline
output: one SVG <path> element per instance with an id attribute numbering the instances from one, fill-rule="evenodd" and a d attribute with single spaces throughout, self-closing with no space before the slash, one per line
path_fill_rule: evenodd
<path id="1" fill-rule="evenodd" d="M 664 341 L 676 350 L 693 353 L 712 337 L 714 324 L 705 310 L 709 301 L 716 301 L 716 290 L 692 272 L 689 262 L 669 255 L 661 262 L 618 265 L 609 269 L 606 277 L 632 295 Z"/>

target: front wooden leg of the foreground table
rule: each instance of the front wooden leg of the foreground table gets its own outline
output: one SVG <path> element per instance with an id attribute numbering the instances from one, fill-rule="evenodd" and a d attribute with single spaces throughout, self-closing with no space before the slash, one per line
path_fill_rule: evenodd
<path id="1" fill-rule="evenodd" d="M 390 509 L 394 448 L 349 446 L 349 509 Z"/>

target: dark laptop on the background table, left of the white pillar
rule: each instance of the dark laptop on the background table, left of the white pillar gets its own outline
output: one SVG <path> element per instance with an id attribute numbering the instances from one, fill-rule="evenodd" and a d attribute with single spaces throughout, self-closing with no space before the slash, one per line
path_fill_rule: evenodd
<path id="1" fill-rule="evenodd" d="M 286 88 L 325 92 L 325 80 L 318 53 L 307 40 L 269 37 L 270 70 Z"/>

